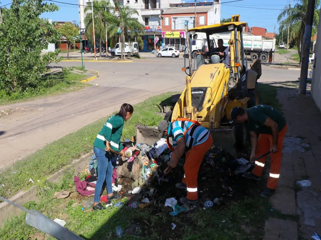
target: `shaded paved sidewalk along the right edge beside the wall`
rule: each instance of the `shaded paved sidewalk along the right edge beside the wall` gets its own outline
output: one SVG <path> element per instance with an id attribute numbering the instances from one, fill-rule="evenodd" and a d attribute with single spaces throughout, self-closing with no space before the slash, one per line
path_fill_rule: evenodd
<path id="1" fill-rule="evenodd" d="M 264 239 L 311 239 L 314 232 L 321 233 L 321 112 L 310 93 L 300 95 L 295 85 L 279 86 L 288 132 L 281 177 L 271 202 L 275 210 L 289 214 L 283 218 L 292 220 L 270 218 Z M 301 188 L 298 180 L 310 180 L 312 185 Z"/>

